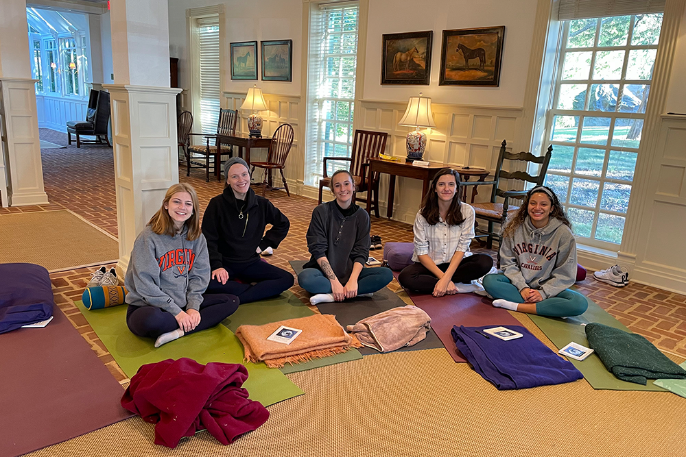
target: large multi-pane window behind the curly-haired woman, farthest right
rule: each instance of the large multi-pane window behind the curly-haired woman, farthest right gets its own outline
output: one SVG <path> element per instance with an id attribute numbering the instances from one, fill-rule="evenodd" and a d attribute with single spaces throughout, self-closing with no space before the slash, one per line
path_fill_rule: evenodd
<path id="1" fill-rule="evenodd" d="M 622 242 L 661 25 L 661 13 L 563 23 L 545 184 L 581 243 Z"/>

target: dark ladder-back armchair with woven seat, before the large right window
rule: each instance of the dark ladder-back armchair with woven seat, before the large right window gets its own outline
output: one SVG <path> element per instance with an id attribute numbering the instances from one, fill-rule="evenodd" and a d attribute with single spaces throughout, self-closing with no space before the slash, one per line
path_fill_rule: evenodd
<path id="1" fill-rule="evenodd" d="M 475 238 L 487 238 L 486 247 L 491 249 L 493 247 L 493 239 L 497 239 L 500 243 L 500 229 L 496 232 L 493 230 L 493 224 L 499 223 L 502 227 L 507 220 L 508 216 L 514 214 L 515 211 L 519 210 L 520 202 L 516 205 L 510 203 L 510 199 L 522 200 L 527 193 L 527 190 L 502 190 L 499 185 L 506 182 L 506 180 L 519 180 L 524 181 L 524 185 L 527 182 L 534 184 L 534 186 L 541 186 L 543 181 L 545 181 L 545 173 L 548 170 L 548 164 L 552 156 L 553 147 L 548 146 L 545 155 L 534 156 L 530 152 L 519 152 L 511 153 L 506 151 L 507 143 L 503 140 L 500 145 L 500 153 L 498 155 L 498 162 L 495 166 L 495 178 L 493 181 L 485 182 L 464 182 L 461 186 L 493 186 L 493 191 L 490 193 L 490 201 L 488 203 L 471 203 L 474 208 L 475 216 L 477 219 L 484 219 L 488 221 L 488 230 L 477 230 Z M 528 169 L 528 164 L 534 163 L 539 164 L 541 168 L 539 169 L 538 175 L 530 175 L 526 171 L 506 171 L 503 169 L 504 161 L 513 162 L 526 162 L 525 169 Z M 500 264 L 500 254 L 498 254 L 498 264 Z"/>

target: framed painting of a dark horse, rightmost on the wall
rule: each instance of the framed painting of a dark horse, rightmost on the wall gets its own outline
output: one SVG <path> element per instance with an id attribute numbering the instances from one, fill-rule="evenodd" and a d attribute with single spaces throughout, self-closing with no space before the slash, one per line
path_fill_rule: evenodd
<path id="1" fill-rule="evenodd" d="M 499 86 L 505 26 L 444 30 L 439 86 Z"/>

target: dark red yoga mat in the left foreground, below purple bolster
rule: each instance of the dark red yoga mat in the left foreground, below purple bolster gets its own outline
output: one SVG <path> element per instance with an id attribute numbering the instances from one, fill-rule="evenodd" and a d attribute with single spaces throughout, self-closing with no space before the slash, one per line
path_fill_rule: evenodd
<path id="1" fill-rule="evenodd" d="M 0 457 L 14 457 L 132 416 L 124 391 L 56 306 L 45 328 L 0 335 Z"/>

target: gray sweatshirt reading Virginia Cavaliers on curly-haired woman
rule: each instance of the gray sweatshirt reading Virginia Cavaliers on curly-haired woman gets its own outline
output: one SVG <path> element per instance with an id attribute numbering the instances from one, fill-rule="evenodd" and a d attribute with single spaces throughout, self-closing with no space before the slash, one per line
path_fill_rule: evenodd
<path id="1" fill-rule="evenodd" d="M 502 240 L 500 266 L 517 290 L 555 297 L 576 281 L 576 238 L 559 219 L 537 229 L 527 217 L 512 238 Z"/>

